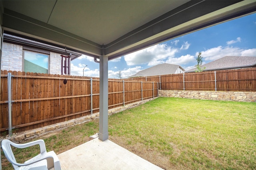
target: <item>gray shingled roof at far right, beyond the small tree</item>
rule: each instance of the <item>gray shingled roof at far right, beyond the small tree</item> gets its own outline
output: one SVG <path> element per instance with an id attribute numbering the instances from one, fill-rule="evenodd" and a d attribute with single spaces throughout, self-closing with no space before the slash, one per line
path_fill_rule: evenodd
<path id="1" fill-rule="evenodd" d="M 256 66 L 256 57 L 244 57 L 244 56 L 226 56 L 207 64 L 203 64 L 201 68 L 204 71 L 210 70 L 226 70 L 233 68 L 246 68 Z M 195 72 L 196 68 L 187 70 L 185 72 Z"/>

